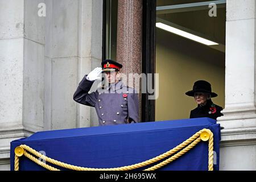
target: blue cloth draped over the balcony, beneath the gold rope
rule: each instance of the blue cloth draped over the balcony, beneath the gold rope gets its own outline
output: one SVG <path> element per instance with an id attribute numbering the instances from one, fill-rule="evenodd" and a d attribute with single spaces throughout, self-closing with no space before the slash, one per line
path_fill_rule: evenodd
<path id="1" fill-rule="evenodd" d="M 209 129 L 213 133 L 214 170 L 218 170 L 220 125 L 210 118 L 40 131 L 11 142 L 11 170 L 14 170 L 14 149 L 20 144 L 75 166 L 114 168 L 140 163 L 163 154 L 201 129 Z M 46 170 L 25 156 L 20 157 L 19 169 Z M 208 170 L 208 142 L 199 142 L 186 154 L 159 170 Z"/>

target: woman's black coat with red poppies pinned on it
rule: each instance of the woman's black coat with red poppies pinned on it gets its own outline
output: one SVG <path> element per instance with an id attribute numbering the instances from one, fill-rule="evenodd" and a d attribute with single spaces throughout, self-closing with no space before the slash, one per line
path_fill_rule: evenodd
<path id="1" fill-rule="evenodd" d="M 214 109 L 215 108 L 215 109 Z M 220 111 L 223 108 L 216 104 L 213 104 L 212 100 L 208 100 L 207 104 L 204 106 L 198 105 L 196 109 L 191 110 L 189 118 L 212 118 L 216 119 L 223 115 Z"/>

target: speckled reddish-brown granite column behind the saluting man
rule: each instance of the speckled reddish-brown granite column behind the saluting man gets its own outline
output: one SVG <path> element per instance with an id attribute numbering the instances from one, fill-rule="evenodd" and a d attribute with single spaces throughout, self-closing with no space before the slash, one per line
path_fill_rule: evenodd
<path id="1" fill-rule="evenodd" d="M 119 0 L 118 1 L 118 25 L 117 25 L 117 61 L 123 65 L 122 73 L 142 73 L 142 1 Z M 132 82 L 127 86 L 137 88 Z M 139 94 L 141 118 L 141 94 Z"/>

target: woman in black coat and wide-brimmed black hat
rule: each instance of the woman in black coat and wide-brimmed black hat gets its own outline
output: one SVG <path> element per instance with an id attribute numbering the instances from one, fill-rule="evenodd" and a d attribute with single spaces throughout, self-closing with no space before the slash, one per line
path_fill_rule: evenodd
<path id="1" fill-rule="evenodd" d="M 204 80 L 196 81 L 193 85 L 193 90 L 185 93 L 187 96 L 195 98 L 197 103 L 196 109 L 191 110 L 189 118 L 203 118 L 208 117 L 217 119 L 223 115 L 220 111 L 223 109 L 221 106 L 213 104 L 210 98 L 217 97 L 218 95 L 212 92 L 209 82 Z"/>

